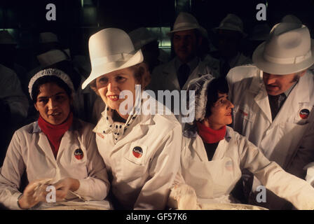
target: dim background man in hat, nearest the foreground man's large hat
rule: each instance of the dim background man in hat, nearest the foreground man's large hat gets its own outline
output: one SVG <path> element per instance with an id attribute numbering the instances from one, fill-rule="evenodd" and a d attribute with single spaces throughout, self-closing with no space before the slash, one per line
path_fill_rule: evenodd
<path id="1" fill-rule="evenodd" d="M 252 60 L 241 52 L 240 46 L 243 38 L 247 36 L 243 31 L 243 22 L 235 14 L 228 14 L 220 22 L 219 27 L 214 28 L 217 34 L 216 54 L 212 54 L 219 59 L 219 73 L 226 76 L 228 71 L 235 66 L 252 64 Z"/>

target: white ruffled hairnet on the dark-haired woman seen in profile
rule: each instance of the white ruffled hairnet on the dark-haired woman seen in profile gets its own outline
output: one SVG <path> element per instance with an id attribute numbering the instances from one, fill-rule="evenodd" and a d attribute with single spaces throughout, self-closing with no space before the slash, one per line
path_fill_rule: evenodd
<path id="1" fill-rule="evenodd" d="M 214 77 L 210 74 L 194 78 L 189 83 L 187 91 L 195 90 L 195 120 L 201 121 L 205 118 L 207 104 L 207 87 Z"/>

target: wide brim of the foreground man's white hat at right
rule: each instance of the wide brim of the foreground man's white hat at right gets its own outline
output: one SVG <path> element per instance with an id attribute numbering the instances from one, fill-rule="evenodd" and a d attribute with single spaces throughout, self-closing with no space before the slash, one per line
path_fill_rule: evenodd
<path id="1" fill-rule="evenodd" d="M 264 45 L 261 43 L 256 50 L 254 50 L 252 59 L 253 63 L 257 65 L 261 71 L 275 75 L 287 75 L 308 69 L 314 63 L 314 41 L 311 40 L 311 57 L 297 64 L 277 64 L 268 62 L 263 57 Z"/>

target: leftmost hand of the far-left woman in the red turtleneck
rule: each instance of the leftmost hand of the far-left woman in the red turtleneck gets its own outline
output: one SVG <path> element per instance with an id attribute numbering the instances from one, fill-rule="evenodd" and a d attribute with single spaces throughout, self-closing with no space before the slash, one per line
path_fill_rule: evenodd
<path id="1" fill-rule="evenodd" d="M 47 183 L 43 180 L 32 181 L 25 188 L 22 197 L 19 198 L 18 204 L 21 209 L 29 209 L 34 207 L 39 202 L 46 201 L 46 192 Z"/>

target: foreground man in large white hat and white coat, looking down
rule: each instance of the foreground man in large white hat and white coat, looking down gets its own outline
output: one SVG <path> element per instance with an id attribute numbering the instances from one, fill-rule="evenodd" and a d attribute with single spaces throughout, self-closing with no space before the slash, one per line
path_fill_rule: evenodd
<path id="1" fill-rule="evenodd" d="M 287 172 L 305 177 L 314 161 L 314 45 L 305 25 L 279 23 L 254 51 L 255 65 L 237 66 L 227 75 L 233 129 L 261 148 Z M 253 190 L 259 183 L 254 181 Z M 268 196 L 268 195 L 267 195 Z M 279 200 L 266 198 L 272 209 Z"/>

